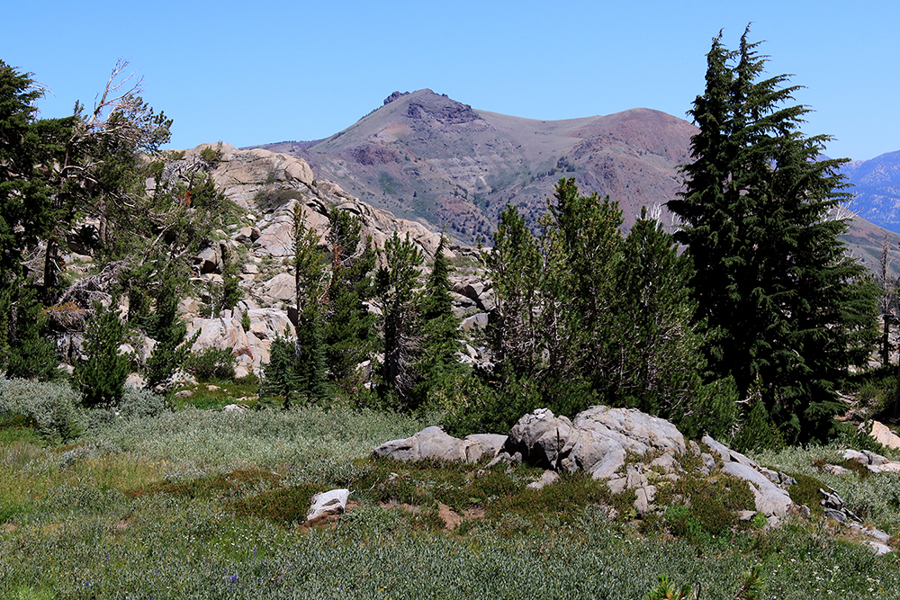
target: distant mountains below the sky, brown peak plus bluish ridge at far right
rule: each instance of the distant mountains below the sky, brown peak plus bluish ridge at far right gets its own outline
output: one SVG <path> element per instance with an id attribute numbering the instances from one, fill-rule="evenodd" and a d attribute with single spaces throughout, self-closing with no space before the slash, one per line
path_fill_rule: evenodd
<path id="1" fill-rule="evenodd" d="M 464 243 L 490 244 L 507 204 L 537 228 L 561 177 L 574 177 L 582 193 L 609 195 L 630 228 L 642 206 L 662 206 L 680 192 L 679 166 L 690 162 L 697 131 L 646 108 L 539 121 L 473 109 L 423 89 L 394 92 L 327 139 L 254 148 L 302 157 L 317 179 L 397 217 L 446 227 Z M 878 226 L 900 232 L 900 152 L 850 163 L 843 173 L 857 184 L 851 209 L 862 218 L 843 239 L 875 269 L 886 233 Z M 672 224 L 664 209 L 662 221 Z M 900 236 L 889 239 L 896 248 Z"/>

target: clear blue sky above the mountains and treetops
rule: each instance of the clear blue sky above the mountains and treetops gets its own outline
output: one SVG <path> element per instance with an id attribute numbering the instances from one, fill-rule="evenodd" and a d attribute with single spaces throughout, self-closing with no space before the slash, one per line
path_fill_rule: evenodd
<path id="1" fill-rule="evenodd" d="M 15 2 L 0 59 L 52 95 L 41 116 L 90 108 L 119 58 L 175 120 L 171 148 L 325 138 L 394 90 L 541 120 L 647 107 L 686 118 L 705 54 L 752 22 L 768 73 L 793 74 L 832 157 L 900 149 L 896 0 L 247 0 Z"/>

